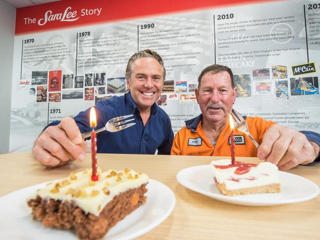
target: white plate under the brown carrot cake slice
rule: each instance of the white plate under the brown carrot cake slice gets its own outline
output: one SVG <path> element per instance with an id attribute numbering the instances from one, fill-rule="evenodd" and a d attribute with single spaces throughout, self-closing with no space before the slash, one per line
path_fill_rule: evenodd
<path id="1" fill-rule="evenodd" d="M 57 230 L 44 227 L 39 221 L 32 220 L 27 198 L 46 183 L 27 187 L 0 198 L 0 235 L 1 239 L 19 240 L 77 240 L 72 230 Z M 172 212 L 176 198 L 166 185 L 149 180 L 146 203 L 118 222 L 105 236 L 107 240 L 133 239 L 158 226 Z"/>

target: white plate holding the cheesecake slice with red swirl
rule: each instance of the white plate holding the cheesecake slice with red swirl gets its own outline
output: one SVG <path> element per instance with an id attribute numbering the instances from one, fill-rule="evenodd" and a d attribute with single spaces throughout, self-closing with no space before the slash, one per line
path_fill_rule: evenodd
<path id="1" fill-rule="evenodd" d="M 177 180 L 185 187 L 208 197 L 226 203 L 247 206 L 270 206 L 297 203 L 315 198 L 319 187 L 300 176 L 279 171 L 281 193 L 260 193 L 229 197 L 220 193 L 212 177 L 209 165 L 195 166 L 181 170 Z"/>

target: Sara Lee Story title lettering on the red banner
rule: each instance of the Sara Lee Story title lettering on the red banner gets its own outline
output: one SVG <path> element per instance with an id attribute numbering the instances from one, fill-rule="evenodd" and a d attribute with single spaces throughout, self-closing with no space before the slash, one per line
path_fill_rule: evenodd
<path id="1" fill-rule="evenodd" d="M 96 15 L 96 16 L 99 16 L 100 13 L 101 13 L 101 9 L 102 9 L 101 7 L 100 8 L 95 8 L 95 9 L 83 8 L 83 9 L 81 9 L 81 15 L 80 16 L 85 16 L 85 15 Z M 59 20 L 60 22 L 72 22 L 72 21 L 78 20 L 80 18 L 80 16 L 77 17 L 77 11 L 72 11 L 71 7 L 65 8 L 63 13 L 62 12 L 61 13 L 53 13 L 51 10 L 48 10 L 44 14 L 44 18 L 41 18 L 41 19 L 38 20 L 38 25 L 43 26 L 47 22 L 56 21 L 56 20 Z M 28 20 L 28 24 L 29 24 L 29 19 L 27 18 L 27 20 Z M 34 23 L 33 19 L 31 19 L 31 20 L 32 20 L 32 23 Z"/>

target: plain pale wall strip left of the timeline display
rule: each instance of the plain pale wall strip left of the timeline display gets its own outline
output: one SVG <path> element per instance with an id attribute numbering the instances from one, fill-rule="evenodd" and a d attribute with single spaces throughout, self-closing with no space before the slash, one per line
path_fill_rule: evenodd
<path id="1" fill-rule="evenodd" d="M 9 150 L 16 8 L 0 0 L 0 154 Z"/>

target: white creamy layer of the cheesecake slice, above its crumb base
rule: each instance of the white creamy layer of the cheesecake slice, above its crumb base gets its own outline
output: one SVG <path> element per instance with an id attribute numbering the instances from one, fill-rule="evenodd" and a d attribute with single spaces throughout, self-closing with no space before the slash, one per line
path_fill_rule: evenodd
<path id="1" fill-rule="evenodd" d="M 227 166 L 231 164 L 230 159 L 212 161 L 210 166 L 213 177 L 217 182 L 225 184 L 229 190 L 258 187 L 273 183 L 280 183 L 278 167 L 271 162 L 261 162 L 250 168 L 244 174 L 235 174 L 237 167 L 219 169 L 215 166 Z"/>

